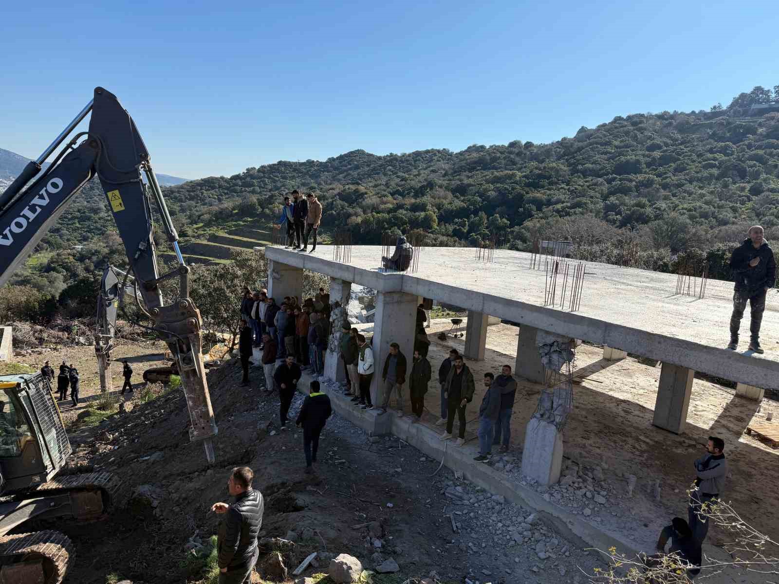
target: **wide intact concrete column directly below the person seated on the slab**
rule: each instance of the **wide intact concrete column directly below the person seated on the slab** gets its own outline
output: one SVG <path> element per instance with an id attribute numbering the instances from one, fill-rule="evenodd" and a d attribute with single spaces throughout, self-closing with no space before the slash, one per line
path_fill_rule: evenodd
<path id="1" fill-rule="evenodd" d="M 384 361 L 390 354 L 390 343 L 398 343 L 406 356 L 408 371 L 414 362 L 414 331 L 417 324 L 417 297 L 403 292 L 379 292 L 376 294 L 376 311 L 373 321 L 373 358 L 375 373 L 371 385 L 371 398 L 376 405 L 381 399 Z M 404 399 L 408 399 L 408 379 L 404 385 Z"/>

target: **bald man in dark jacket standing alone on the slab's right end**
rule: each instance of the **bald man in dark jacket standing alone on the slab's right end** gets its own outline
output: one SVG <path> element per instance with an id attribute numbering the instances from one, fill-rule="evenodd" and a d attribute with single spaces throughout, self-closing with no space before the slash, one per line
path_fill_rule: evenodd
<path id="1" fill-rule="evenodd" d="M 752 319 L 749 323 L 749 350 L 763 353 L 759 340 L 760 323 L 763 321 L 763 311 L 766 309 L 766 293 L 776 282 L 777 264 L 774 261 L 774 251 L 763 238 L 763 227 L 760 225 L 749 227 L 748 235 L 749 237 L 742 245 L 735 248 L 731 255 L 735 292 L 728 349 L 736 350 L 738 347 L 738 328 L 744 315 L 746 301 L 749 301 Z"/>

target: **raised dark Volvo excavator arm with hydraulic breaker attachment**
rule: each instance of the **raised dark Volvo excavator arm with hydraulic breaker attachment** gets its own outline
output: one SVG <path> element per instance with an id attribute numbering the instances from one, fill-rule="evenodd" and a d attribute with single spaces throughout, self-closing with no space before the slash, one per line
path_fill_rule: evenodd
<path id="1" fill-rule="evenodd" d="M 22 190 L 90 111 L 89 130 L 71 139 L 44 174 Z M 146 174 L 148 188 L 141 171 Z M 189 297 L 189 267 L 178 248 L 178 234 L 135 122 L 116 96 L 102 87 L 94 90 L 90 104 L 0 195 L 0 286 L 30 255 L 73 195 L 95 175 L 124 242 L 129 272 L 135 276 L 137 293 L 143 299 L 139 307 L 178 362 L 192 422 L 189 438 L 203 441 L 206 458 L 213 463 L 211 439 L 217 434 L 217 425 L 203 367 L 200 313 Z M 157 204 L 178 259 L 178 268 L 164 275 L 157 266 L 150 198 Z M 160 283 L 171 278 L 178 279 L 178 296 L 165 304 Z"/>

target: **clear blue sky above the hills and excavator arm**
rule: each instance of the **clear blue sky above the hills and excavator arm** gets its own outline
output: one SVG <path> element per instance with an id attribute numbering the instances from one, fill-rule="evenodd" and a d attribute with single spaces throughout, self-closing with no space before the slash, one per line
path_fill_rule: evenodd
<path id="1" fill-rule="evenodd" d="M 97 85 L 185 178 L 550 142 L 773 87 L 777 30 L 776 0 L 6 3 L 0 147 L 37 157 Z"/>

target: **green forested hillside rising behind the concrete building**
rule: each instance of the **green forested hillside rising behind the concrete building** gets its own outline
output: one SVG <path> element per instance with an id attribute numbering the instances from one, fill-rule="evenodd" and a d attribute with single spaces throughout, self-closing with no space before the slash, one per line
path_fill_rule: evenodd
<path id="1" fill-rule="evenodd" d="M 496 234 L 515 249 L 538 235 L 564 237 L 585 259 L 625 262 L 621 248 L 629 247 L 629 264 L 649 269 L 674 269 L 679 252 L 710 259 L 716 252 L 713 275 L 728 277 L 725 250 L 747 224 L 763 223 L 769 239 L 779 227 L 779 86 L 756 87 L 710 111 L 618 116 L 549 144 L 386 156 L 354 150 L 164 192 L 186 245 L 227 224 L 240 225 L 238 236 L 266 227 L 293 188 L 317 192 L 323 231 L 347 226 L 357 244 L 378 243 L 390 230 L 416 230 L 427 245 L 480 245 Z M 41 245 L 40 262 L 16 283 L 48 281 L 49 293 L 59 294 L 106 255 L 121 259 L 111 229 L 103 193 L 87 185 Z M 69 249 L 73 243 L 86 247 Z"/>

